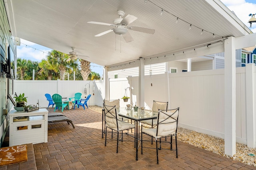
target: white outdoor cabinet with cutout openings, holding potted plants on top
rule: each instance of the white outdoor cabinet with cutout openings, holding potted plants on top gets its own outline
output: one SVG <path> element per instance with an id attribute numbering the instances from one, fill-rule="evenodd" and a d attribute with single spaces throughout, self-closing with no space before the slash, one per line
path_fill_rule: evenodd
<path id="1" fill-rule="evenodd" d="M 48 141 L 48 110 L 10 111 L 9 146 Z"/>

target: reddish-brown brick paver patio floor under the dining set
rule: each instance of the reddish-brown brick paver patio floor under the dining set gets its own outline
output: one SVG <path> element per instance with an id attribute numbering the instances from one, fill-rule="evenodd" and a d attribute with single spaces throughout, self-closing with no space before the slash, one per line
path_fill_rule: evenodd
<path id="1" fill-rule="evenodd" d="M 48 110 L 54 111 L 52 108 Z M 66 122 L 48 123 L 48 143 L 34 145 L 38 170 L 256 169 L 180 141 L 178 158 L 175 151 L 160 150 L 159 164 L 156 164 L 155 149 L 143 149 L 143 154 L 139 149 L 136 161 L 134 142 L 121 142 L 118 153 L 116 141 L 107 141 L 104 146 L 101 113 L 83 108 L 64 110 L 63 113 L 72 119 L 76 128 Z M 124 138 L 134 140 L 126 135 Z M 152 146 L 155 147 L 155 143 Z"/>

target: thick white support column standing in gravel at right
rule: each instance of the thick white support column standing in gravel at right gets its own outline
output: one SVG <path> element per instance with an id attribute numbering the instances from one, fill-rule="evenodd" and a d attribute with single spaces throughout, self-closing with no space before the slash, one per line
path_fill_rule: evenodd
<path id="1" fill-rule="evenodd" d="M 236 154 L 236 49 L 235 37 L 228 37 L 224 43 L 224 153 Z"/>

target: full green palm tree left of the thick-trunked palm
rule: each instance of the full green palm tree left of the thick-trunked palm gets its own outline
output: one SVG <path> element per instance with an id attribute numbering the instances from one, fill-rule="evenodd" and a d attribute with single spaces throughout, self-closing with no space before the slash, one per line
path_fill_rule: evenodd
<path id="1" fill-rule="evenodd" d="M 46 57 L 53 70 L 60 74 L 60 80 L 64 80 L 65 72 L 71 73 L 78 67 L 76 60 L 70 60 L 67 62 L 68 55 L 60 51 L 49 51 Z"/>

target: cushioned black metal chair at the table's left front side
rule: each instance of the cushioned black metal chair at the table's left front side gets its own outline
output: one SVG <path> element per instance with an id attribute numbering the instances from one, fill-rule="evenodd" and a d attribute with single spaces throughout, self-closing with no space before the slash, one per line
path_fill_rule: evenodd
<path id="1" fill-rule="evenodd" d="M 120 143 L 120 141 L 123 141 L 123 131 L 129 130 L 129 129 L 134 129 L 135 125 L 120 120 L 118 113 L 116 112 L 116 106 L 107 106 L 104 104 L 103 108 L 104 108 L 105 125 L 106 125 L 105 146 L 107 144 L 107 140 L 115 140 L 115 139 L 112 139 L 113 133 L 112 133 L 111 139 L 107 139 L 107 128 L 109 128 L 109 129 L 112 129 L 113 131 L 117 132 L 116 153 L 118 153 L 118 144 Z M 121 137 L 119 139 L 120 132 L 121 132 Z M 132 141 L 132 142 L 134 142 L 134 141 Z"/>

